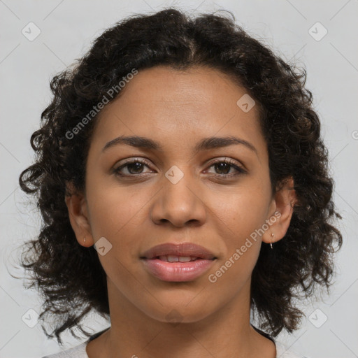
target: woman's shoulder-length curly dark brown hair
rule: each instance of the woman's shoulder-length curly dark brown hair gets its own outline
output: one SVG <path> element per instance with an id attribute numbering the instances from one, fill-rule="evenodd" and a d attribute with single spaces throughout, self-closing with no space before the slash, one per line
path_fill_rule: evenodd
<path id="1" fill-rule="evenodd" d="M 297 329 L 303 313 L 296 299 L 307 298 L 317 285 L 329 289 L 332 257 L 342 245 L 341 232 L 331 222 L 342 217 L 331 199 L 334 181 L 313 96 L 305 88 L 306 70 L 249 36 L 235 18 L 215 13 L 193 17 L 176 8 L 117 22 L 76 61 L 50 82 L 52 101 L 41 114 L 41 128 L 31 136 L 36 162 L 20 174 L 21 189 L 34 194 L 43 217 L 38 237 L 24 243 L 28 247 L 21 265 L 31 271 L 29 287 L 36 284 L 44 298 L 40 320 L 55 317 L 55 329 L 45 331 L 46 336 L 55 334 L 62 344 L 60 334 L 66 329 L 73 334 L 73 327 L 90 336 L 81 325 L 83 317 L 92 309 L 109 317 L 106 273 L 93 246 L 78 245 L 64 200 L 71 194 L 66 183 L 85 189 L 97 116 L 74 138 L 69 133 L 132 69 L 157 65 L 181 70 L 209 66 L 229 74 L 255 99 L 273 193 L 291 176 L 298 201 L 285 237 L 274 250 L 262 244 L 252 272 L 251 307 L 259 328 L 273 336 Z"/>

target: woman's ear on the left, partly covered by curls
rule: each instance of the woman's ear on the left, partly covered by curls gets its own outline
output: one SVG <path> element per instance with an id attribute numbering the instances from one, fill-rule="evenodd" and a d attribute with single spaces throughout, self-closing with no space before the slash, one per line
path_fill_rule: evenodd
<path id="1" fill-rule="evenodd" d="M 78 193 L 72 183 L 66 184 L 65 202 L 69 210 L 71 227 L 77 241 L 86 248 L 94 245 L 85 195 Z M 86 238 L 86 241 L 84 239 Z"/>

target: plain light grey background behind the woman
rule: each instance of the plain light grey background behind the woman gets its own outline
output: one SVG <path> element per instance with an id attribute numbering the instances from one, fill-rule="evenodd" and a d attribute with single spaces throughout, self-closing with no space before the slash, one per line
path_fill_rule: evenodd
<path id="1" fill-rule="evenodd" d="M 22 281 L 8 273 L 23 274 L 13 266 L 18 257 L 15 248 L 34 237 L 40 224 L 17 180 L 33 159 L 29 137 L 38 129 L 41 112 L 50 101 L 49 81 L 83 55 L 106 27 L 127 15 L 169 6 L 196 9 L 196 13 L 231 10 L 250 34 L 286 60 L 306 66 L 307 87 L 313 92 L 330 152 L 344 245 L 337 256 L 331 295 L 303 303 L 307 319 L 302 328 L 291 336 L 279 336 L 279 341 L 311 358 L 358 357 L 357 0 L 0 0 L 0 357 L 42 357 L 61 350 L 55 341 L 46 339 L 40 324 L 30 328 L 24 323 L 23 316 L 34 315 L 29 309 L 40 312 L 41 301 L 36 291 L 25 290 Z M 34 41 L 22 34 L 24 28 L 29 32 L 29 22 L 41 29 Z M 320 41 L 308 32 L 316 22 L 328 31 Z M 324 29 L 315 25 L 311 31 L 317 37 Z M 320 311 L 313 313 L 316 309 Z M 327 322 L 315 327 L 326 316 Z M 97 315 L 85 322 L 93 331 L 108 327 Z M 66 348 L 81 342 L 71 335 L 65 337 Z"/>

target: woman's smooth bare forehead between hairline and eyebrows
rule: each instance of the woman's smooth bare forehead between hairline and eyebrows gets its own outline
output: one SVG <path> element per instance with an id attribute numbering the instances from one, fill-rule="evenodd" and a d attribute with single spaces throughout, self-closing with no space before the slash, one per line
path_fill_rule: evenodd
<path id="1" fill-rule="evenodd" d="M 194 146 L 199 137 L 237 134 L 262 145 L 258 108 L 242 110 L 237 102 L 243 96 L 244 87 L 209 67 L 144 69 L 101 110 L 94 140 L 103 144 L 126 134 L 150 136 L 164 147 Z"/>

